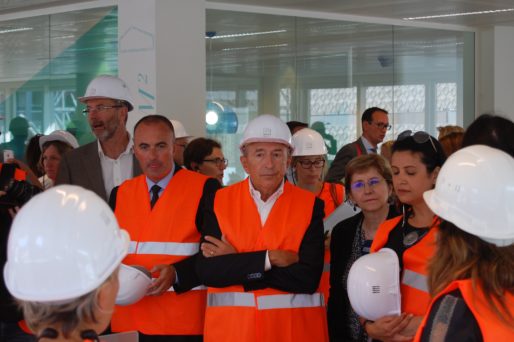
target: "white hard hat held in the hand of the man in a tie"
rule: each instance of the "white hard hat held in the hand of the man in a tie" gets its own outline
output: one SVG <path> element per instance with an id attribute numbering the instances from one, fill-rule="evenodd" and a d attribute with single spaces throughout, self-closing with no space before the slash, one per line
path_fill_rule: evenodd
<path id="1" fill-rule="evenodd" d="M 152 283 L 151 273 L 143 266 L 121 264 L 118 273 L 120 289 L 116 296 L 117 305 L 130 305 L 139 302 Z"/>

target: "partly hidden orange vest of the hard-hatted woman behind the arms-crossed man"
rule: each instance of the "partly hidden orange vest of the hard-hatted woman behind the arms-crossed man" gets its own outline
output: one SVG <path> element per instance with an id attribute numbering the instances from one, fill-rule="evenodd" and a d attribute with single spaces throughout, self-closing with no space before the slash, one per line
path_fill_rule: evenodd
<path id="1" fill-rule="evenodd" d="M 325 218 L 344 202 L 344 187 L 336 183 L 324 183 L 318 197 L 325 202 Z M 328 292 L 330 289 L 330 248 L 325 249 L 323 261 L 323 274 L 319 282 L 318 291 L 323 293 L 325 306 L 328 304 Z"/>

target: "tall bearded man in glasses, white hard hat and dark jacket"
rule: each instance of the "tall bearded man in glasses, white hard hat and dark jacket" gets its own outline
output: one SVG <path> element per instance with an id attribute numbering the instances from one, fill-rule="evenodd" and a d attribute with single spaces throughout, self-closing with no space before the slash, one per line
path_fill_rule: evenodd
<path id="1" fill-rule="evenodd" d="M 111 190 L 123 181 L 141 174 L 127 132 L 132 96 L 123 80 L 102 75 L 89 83 L 79 98 L 97 141 L 65 154 L 56 184 L 75 184 L 92 190 L 107 201 Z"/>

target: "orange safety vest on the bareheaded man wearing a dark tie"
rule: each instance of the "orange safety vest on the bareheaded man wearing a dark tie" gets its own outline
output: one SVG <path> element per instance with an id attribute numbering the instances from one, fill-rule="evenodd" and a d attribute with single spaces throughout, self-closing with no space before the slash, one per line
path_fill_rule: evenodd
<path id="1" fill-rule="evenodd" d="M 144 175 L 119 187 L 115 215 L 131 239 L 124 264 L 151 270 L 155 265 L 173 264 L 199 251 L 201 235 L 195 218 L 206 180 L 207 177 L 198 173 L 180 170 L 173 175 L 153 209 Z M 170 289 L 160 296 L 146 296 L 135 304 L 116 306 L 112 331 L 201 335 L 205 303 L 204 286 L 180 295 Z"/>

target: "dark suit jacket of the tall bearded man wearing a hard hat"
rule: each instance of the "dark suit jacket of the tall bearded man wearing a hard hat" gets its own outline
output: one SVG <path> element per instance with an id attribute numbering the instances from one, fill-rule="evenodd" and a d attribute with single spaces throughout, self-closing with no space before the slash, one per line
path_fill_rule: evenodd
<path id="1" fill-rule="evenodd" d="M 141 168 L 134 157 L 132 176 L 135 177 L 140 174 Z M 107 202 L 109 194 L 105 193 L 102 166 L 100 156 L 98 156 L 98 142 L 96 140 L 80 146 L 62 157 L 55 184 L 80 185 L 95 192 Z"/>

